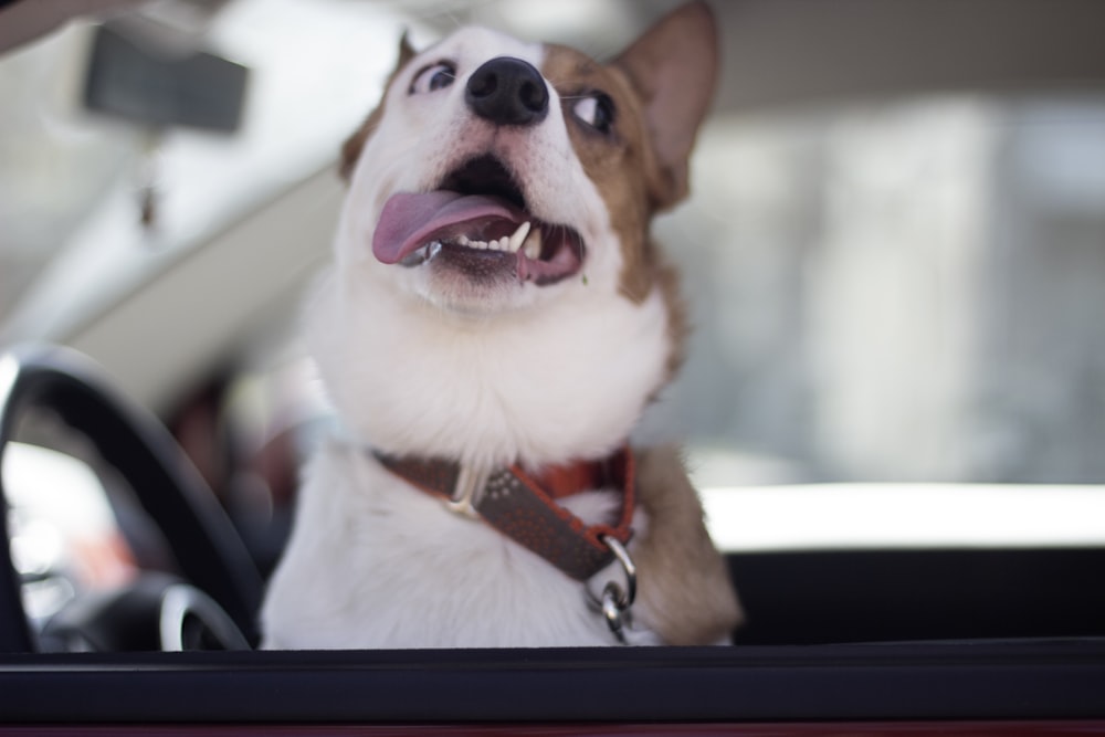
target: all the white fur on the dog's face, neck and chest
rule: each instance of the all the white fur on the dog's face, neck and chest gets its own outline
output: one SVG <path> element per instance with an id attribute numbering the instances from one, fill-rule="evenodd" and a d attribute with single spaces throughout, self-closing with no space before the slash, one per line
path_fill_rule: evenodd
<path id="1" fill-rule="evenodd" d="M 659 293 L 641 304 L 619 294 L 619 242 L 571 148 L 555 90 L 548 117 L 530 130 L 497 130 L 464 106 L 464 81 L 484 61 L 512 55 L 539 67 L 543 53 L 462 30 L 413 60 L 387 93 L 352 177 L 336 269 L 307 322 L 352 439 L 334 441 L 306 470 L 296 527 L 263 611 L 267 646 L 613 642 L 579 582 L 448 512 L 367 452 L 480 466 L 597 459 L 625 441 L 664 380 L 665 304 Z M 409 96 L 411 76 L 440 59 L 456 64 L 456 83 Z M 431 188 L 484 151 L 512 166 L 535 215 L 581 233 L 586 282 L 481 291 L 372 257 L 375 223 L 391 193 Z M 603 506 L 601 497 L 589 493 L 575 504 Z"/>

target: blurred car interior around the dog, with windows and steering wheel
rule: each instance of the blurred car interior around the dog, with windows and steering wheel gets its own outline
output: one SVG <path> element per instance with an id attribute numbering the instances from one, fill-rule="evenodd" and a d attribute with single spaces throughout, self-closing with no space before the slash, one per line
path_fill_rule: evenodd
<path id="1" fill-rule="evenodd" d="M 398 34 L 602 56 L 677 4 L 107 2 L 0 46 L 6 712 L 1105 718 L 1105 6 L 1078 0 L 711 3 L 714 119 L 656 228 L 695 335 L 640 441 L 687 445 L 732 646 L 254 651 L 334 427 L 298 305 Z"/>

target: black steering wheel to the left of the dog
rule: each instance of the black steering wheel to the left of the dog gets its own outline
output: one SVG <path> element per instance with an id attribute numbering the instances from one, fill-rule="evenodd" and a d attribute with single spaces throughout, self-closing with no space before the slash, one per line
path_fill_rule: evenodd
<path id="1" fill-rule="evenodd" d="M 165 535 L 182 579 L 144 573 L 120 590 L 78 599 L 44 634 L 95 650 L 243 649 L 257 640 L 262 582 L 218 499 L 172 435 L 113 391 L 74 350 L 22 347 L 0 356 L 0 463 L 18 420 L 50 410 L 93 444 Z M 0 512 L 8 496 L 0 474 Z M 0 523 L 3 522 L 0 519 Z M 32 652 L 10 531 L 0 524 L 0 652 Z"/>

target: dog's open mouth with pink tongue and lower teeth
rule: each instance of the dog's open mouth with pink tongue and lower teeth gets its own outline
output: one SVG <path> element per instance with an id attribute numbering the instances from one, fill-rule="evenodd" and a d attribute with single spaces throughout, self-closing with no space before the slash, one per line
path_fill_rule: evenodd
<path id="1" fill-rule="evenodd" d="M 579 272 L 583 240 L 567 225 L 541 221 L 498 159 L 473 159 L 422 193 L 392 194 L 383 206 L 372 253 L 408 269 L 438 259 L 472 277 L 514 274 L 555 284 Z"/>

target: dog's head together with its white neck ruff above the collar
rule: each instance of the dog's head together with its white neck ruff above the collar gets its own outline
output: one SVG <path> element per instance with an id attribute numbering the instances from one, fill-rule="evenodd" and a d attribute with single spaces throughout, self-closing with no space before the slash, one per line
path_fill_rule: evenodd
<path id="1" fill-rule="evenodd" d="M 512 461 L 543 425 L 593 452 L 623 441 L 682 351 L 649 229 L 686 194 L 715 74 L 704 3 L 609 64 L 476 28 L 419 53 L 404 40 L 343 149 L 337 291 L 354 306 L 320 358 L 339 408 L 394 451 Z M 366 343 L 377 355 L 350 347 Z M 369 378 L 380 355 L 392 368 Z M 546 450 L 529 455 L 575 446 Z"/>

